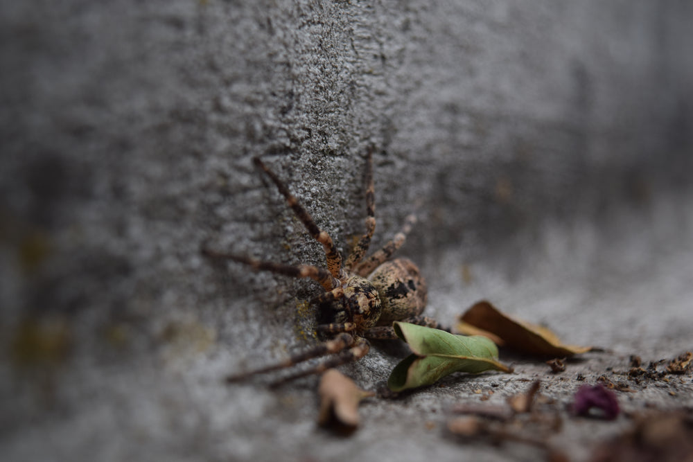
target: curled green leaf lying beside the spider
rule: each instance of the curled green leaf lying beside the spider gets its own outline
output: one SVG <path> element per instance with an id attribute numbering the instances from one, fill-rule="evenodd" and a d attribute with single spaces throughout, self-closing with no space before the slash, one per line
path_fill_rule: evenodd
<path id="1" fill-rule="evenodd" d="M 498 362 L 498 347 L 486 337 L 453 335 L 444 330 L 399 321 L 392 326 L 413 352 L 392 370 L 387 380 L 392 391 L 430 385 L 453 372 L 512 372 L 511 368 Z"/>

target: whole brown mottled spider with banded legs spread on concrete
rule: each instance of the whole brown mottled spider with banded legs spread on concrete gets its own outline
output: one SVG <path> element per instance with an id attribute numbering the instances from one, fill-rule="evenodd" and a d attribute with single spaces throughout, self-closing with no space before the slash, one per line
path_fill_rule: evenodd
<path id="1" fill-rule="evenodd" d="M 366 233 L 342 263 L 342 254 L 332 242 L 332 238 L 317 227 L 313 218 L 299 204 L 279 177 L 258 158 L 254 163 L 267 174 L 286 198 L 296 216 L 303 222 L 315 240 L 324 247 L 327 269 L 310 265 L 282 265 L 268 261 L 256 260 L 246 256 L 214 251 L 202 248 L 204 255 L 211 258 L 225 258 L 249 265 L 256 271 L 269 271 L 295 278 L 311 278 L 324 288 L 324 294 L 316 296 L 311 303 L 326 310 L 329 323 L 317 326 L 318 332 L 335 334 L 331 340 L 313 348 L 292 355 L 286 361 L 227 377 L 227 382 L 243 380 L 251 375 L 274 371 L 304 362 L 308 359 L 334 354 L 322 364 L 307 371 L 296 373 L 281 382 L 321 373 L 328 368 L 357 361 L 364 357 L 370 348 L 369 339 L 396 339 L 392 321 L 406 321 L 421 326 L 441 328 L 437 322 L 421 316 L 426 308 L 426 280 L 419 273 L 419 268 L 406 258 L 389 260 L 390 256 L 401 247 L 416 222 L 414 215 L 409 215 L 400 232 L 376 251 L 369 258 L 363 259 L 368 251 L 371 237 L 376 228 L 373 157 L 369 150 L 366 163 Z"/>

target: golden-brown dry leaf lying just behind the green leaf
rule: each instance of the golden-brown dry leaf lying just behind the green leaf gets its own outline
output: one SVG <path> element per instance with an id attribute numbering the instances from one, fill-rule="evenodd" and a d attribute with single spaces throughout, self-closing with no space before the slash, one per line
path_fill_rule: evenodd
<path id="1" fill-rule="evenodd" d="M 565 357 L 593 349 L 591 346 L 565 345 L 551 330 L 509 317 L 488 301 L 475 303 L 459 317 L 457 329 L 460 332 L 468 332 L 470 326 L 490 332 L 500 337 L 502 344 L 531 355 Z"/>

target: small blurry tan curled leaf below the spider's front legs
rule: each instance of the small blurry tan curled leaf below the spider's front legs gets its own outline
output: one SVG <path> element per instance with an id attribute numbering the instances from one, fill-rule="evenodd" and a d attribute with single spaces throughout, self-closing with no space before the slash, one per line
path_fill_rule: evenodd
<path id="1" fill-rule="evenodd" d="M 358 427 L 358 405 L 363 398 L 374 396 L 364 391 L 349 377 L 336 369 L 328 369 L 320 380 L 320 413 L 318 423 L 342 433 L 351 433 Z"/>

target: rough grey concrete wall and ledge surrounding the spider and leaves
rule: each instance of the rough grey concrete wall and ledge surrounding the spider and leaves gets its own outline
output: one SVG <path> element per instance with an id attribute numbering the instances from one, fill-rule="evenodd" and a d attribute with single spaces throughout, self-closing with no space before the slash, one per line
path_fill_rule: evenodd
<path id="1" fill-rule="evenodd" d="M 665 1 L 0 3 L 0 447 L 25 460 L 536 460 L 446 434 L 457 402 L 536 377 L 574 460 L 629 424 L 568 418 L 629 355 L 693 347 L 693 7 Z M 455 375 L 318 429 L 315 377 L 227 373 L 315 342 L 306 281 L 220 249 L 322 264 L 263 155 L 343 251 L 416 212 L 401 254 L 452 323 L 478 299 L 602 346 L 552 375 Z M 342 368 L 379 389 L 403 348 Z M 584 380 L 577 380 L 582 374 Z M 691 375 L 626 411 L 691 407 Z M 482 391 L 482 393 L 477 393 Z M 489 395 L 493 391 L 493 395 Z"/>

